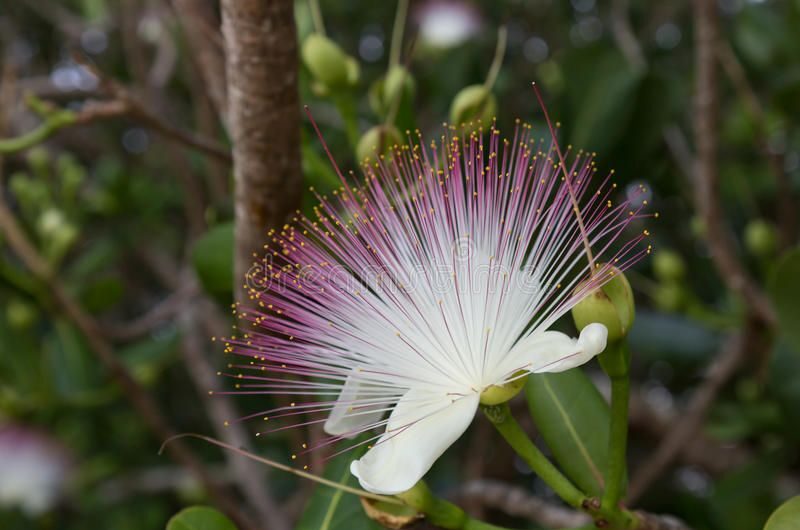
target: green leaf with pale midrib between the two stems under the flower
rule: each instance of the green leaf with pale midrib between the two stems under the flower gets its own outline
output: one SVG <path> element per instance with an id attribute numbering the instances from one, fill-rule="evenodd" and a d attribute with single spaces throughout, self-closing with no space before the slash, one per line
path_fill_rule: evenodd
<path id="1" fill-rule="evenodd" d="M 584 492 L 599 495 L 608 454 L 608 404 L 579 368 L 531 374 L 528 408 L 553 457 Z"/>

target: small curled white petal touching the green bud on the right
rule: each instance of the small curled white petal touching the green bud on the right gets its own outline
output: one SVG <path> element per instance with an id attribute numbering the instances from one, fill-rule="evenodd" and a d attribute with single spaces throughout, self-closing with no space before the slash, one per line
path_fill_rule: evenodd
<path id="1" fill-rule="evenodd" d="M 512 357 L 529 372 L 563 372 L 580 366 L 606 348 L 608 330 L 589 324 L 577 339 L 558 331 L 535 333 L 519 343 Z"/>

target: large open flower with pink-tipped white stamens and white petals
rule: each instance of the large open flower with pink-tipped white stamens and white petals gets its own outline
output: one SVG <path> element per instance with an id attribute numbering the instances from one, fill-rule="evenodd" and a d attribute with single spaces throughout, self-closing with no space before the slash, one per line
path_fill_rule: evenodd
<path id="1" fill-rule="evenodd" d="M 318 197 L 316 219 L 272 231 L 248 275 L 252 309 L 236 309 L 251 330 L 227 339 L 245 359 L 227 374 L 239 392 L 297 399 L 249 418 L 324 423 L 330 438 L 305 451 L 379 433 L 351 465 L 375 493 L 422 478 L 484 391 L 600 353 L 601 324 L 577 339 L 549 328 L 649 251 L 640 233 L 612 252 L 642 215 L 613 202 L 609 178 L 589 191 L 592 155 L 571 156 L 567 178 L 528 125 L 510 139 L 457 132 L 394 146 L 360 185 L 342 177 Z M 590 247 L 608 263 L 589 265 Z"/>

